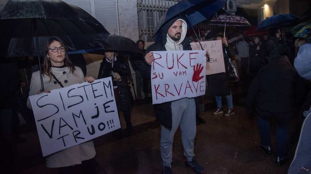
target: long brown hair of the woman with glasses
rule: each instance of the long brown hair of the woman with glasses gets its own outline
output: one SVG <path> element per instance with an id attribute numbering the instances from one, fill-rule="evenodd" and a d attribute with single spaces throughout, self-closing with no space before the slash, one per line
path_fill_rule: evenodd
<path id="1" fill-rule="evenodd" d="M 49 46 L 51 43 L 53 43 L 54 41 L 57 41 L 60 43 L 61 46 L 63 46 L 65 48 L 65 59 L 64 59 L 64 65 L 67 66 L 69 68 L 69 71 L 72 73 L 72 74 L 76 74 L 75 71 L 76 71 L 76 68 L 75 66 L 73 65 L 73 63 L 69 60 L 68 58 L 68 54 L 67 54 L 67 48 L 66 48 L 66 44 L 65 42 L 56 37 L 56 36 L 53 36 L 51 37 L 48 41 L 46 41 L 45 43 L 45 47 L 44 47 L 44 57 L 43 57 L 43 64 L 42 64 L 42 75 L 47 75 L 49 76 L 50 80 L 52 80 L 52 71 L 51 71 L 51 61 L 48 60 L 48 54 L 49 54 Z"/>

